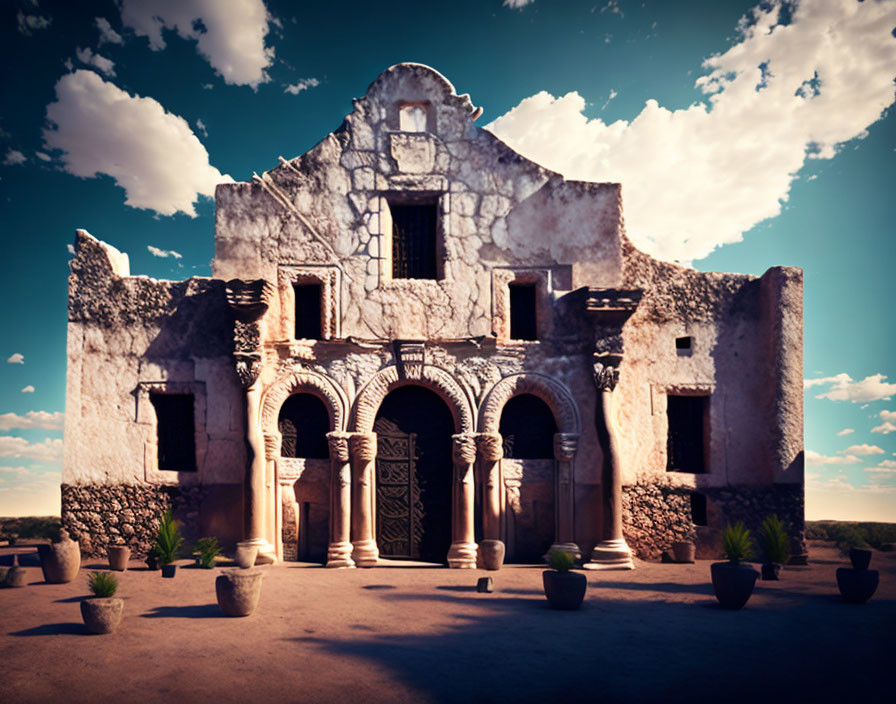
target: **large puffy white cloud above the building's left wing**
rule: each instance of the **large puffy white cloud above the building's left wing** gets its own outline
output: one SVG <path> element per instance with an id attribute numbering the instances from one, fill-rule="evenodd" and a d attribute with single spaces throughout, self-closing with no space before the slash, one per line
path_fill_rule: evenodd
<path id="1" fill-rule="evenodd" d="M 132 208 L 195 217 L 200 195 L 211 197 L 218 183 L 233 181 L 209 164 L 186 120 L 93 71 L 59 79 L 47 118 L 54 127 L 44 130 L 44 141 L 63 152 L 65 170 L 82 178 L 112 176 Z"/>

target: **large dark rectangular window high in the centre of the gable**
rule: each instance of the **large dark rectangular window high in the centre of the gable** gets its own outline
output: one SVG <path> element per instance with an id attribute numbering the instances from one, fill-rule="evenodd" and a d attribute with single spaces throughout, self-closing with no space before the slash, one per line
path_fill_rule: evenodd
<path id="1" fill-rule="evenodd" d="M 392 278 L 438 278 L 438 204 L 389 203 L 392 213 Z"/>

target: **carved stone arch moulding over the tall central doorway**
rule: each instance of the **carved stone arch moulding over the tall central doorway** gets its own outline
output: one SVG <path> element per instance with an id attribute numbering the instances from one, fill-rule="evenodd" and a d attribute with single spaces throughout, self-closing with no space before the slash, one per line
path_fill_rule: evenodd
<path id="1" fill-rule="evenodd" d="M 457 433 L 472 433 L 474 430 L 473 402 L 463 386 L 444 369 L 423 365 L 420 374 L 413 379 L 398 376 L 398 367 L 392 365 L 378 371 L 368 381 L 355 400 L 352 416 L 352 430 L 358 433 L 373 431 L 376 413 L 386 395 L 393 389 L 407 384 L 417 384 L 438 394 L 451 409 Z"/>

